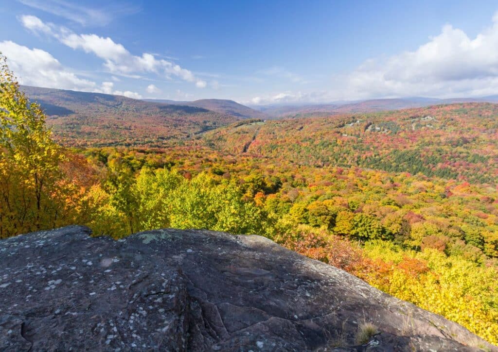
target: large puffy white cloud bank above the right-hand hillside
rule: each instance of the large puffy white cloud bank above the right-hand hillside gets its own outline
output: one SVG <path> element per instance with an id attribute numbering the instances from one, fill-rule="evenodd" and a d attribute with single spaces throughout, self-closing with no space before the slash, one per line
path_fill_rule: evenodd
<path id="1" fill-rule="evenodd" d="M 496 93 L 498 15 L 475 38 L 445 25 L 414 51 L 366 61 L 346 77 L 346 84 L 345 91 L 357 97 Z"/>

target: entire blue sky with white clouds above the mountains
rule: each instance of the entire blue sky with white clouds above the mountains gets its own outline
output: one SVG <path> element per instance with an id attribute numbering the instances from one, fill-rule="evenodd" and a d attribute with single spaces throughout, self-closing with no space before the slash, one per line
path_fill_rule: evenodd
<path id="1" fill-rule="evenodd" d="M 84 4 L 83 4 L 84 2 Z M 496 1 L 0 0 L 23 84 L 247 104 L 498 94 Z"/>

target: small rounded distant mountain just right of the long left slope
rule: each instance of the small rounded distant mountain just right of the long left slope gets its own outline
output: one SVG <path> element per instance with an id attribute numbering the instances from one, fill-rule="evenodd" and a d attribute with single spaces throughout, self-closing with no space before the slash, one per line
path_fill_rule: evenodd
<path id="1" fill-rule="evenodd" d="M 255 110 L 246 105 L 239 104 L 234 100 L 228 99 L 199 99 L 194 101 L 175 101 L 167 99 L 143 99 L 145 101 L 166 103 L 173 105 L 196 106 L 222 114 L 229 114 L 241 118 L 266 118 L 264 112 Z"/>

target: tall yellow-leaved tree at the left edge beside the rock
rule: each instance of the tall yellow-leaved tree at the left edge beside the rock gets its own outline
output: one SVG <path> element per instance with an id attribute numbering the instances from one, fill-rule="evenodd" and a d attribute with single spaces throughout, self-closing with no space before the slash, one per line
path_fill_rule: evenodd
<path id="1" fill-rule="evenodd" d="M 52 228 L 68 216 L 61 148 L 0 53 L 0 238 Z"/>

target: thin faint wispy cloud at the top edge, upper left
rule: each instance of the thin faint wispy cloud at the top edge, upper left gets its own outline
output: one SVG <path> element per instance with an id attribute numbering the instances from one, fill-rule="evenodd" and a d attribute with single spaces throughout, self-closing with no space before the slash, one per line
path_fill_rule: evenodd
<path id="1" fill-rule="evenodd" d="M 78 5 L 65 0 L 18 0 L 22 4 L 42 10 L 81 25 L 106 25 L 114 17 L 135 13 L 136 6 L 123 3 L 109 4 L 106 8 L 96 8 L 95 6 Z"/>

